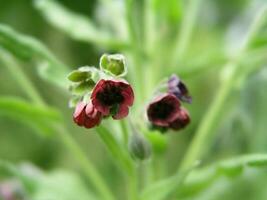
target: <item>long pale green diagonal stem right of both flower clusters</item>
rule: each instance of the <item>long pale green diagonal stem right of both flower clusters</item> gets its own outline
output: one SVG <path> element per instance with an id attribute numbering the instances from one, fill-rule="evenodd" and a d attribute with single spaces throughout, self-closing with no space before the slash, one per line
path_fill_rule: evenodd
<path id="1" fill-rule="evenodd" d="M 211 104 L 208 112 L 200 123 L 196 135 L 193 138 L 193 141 L 189 146 L 189 150 L 187 151 L 185 158 L 181 164 L 182 170 L 188 168 L 190 165 L 192 165 L 193 162 L 201 157 L 206 147 L 209 146 L 208 144 L 209 141 L 211 141 L 212 136 L 215 135 L 216 132 L 213 130 L 213 128 L 215 126 L 218 126 L 221 120 L 220 114 L 224 109 L 225 101 L 232 92 L 235 86 L 235 81 L 238 80 L 239 75 L 244 76 L 244 74 L 240 73 L 241 58 L 245 55 L 245 52 L 249 47 L 251 41 L 262 26 L 266 18 L 266 10 L 267 7 L 264 7 L 255 18 L 255 21 L 252 24 L 250 31 L 248 32 L 243 48 L 241 48 L 236 59 L 226 65 L 227 69 L 230 70 L 230 74 L 228 74 L 228 77 L 224 80 L 224 83 L 221 84 L 213 103 Z"/>

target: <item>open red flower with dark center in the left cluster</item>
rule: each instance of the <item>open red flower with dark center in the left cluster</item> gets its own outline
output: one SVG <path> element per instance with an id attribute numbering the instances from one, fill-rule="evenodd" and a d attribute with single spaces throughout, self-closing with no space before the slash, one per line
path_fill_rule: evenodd
<path id="1" fill-rule="evenodd" d="M 114 119 L 121 119 L 128 115 L 134 93 L 125 81 L 102 79 L 94 87 L 91 99 L 94 107 L 104 116 L 112 114 Z"/>

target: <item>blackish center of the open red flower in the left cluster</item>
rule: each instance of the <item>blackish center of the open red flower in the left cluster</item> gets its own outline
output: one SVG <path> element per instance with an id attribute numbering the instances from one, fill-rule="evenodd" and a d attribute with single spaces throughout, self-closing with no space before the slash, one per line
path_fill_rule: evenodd
<path id="1" fill-rule="evenodd" d="M 106 86 L 103 91 L 97 93 L 96 98 L 106 106 L 120 104 L 124 100 L 120 88 L 111 85 Z"/>

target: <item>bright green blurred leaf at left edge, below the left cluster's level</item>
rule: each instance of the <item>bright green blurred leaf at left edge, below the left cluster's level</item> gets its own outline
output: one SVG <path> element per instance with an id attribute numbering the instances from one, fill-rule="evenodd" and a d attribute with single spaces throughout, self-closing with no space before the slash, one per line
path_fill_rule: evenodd
<path id="1" fill-rule="evenodd" d="M 36 106 L 16 97 L 0 97 L 0 116 L 25 123 L 42 136 L 52 135 L 52 124 L 61 121 L 61 116 L 55 109 Z"/>

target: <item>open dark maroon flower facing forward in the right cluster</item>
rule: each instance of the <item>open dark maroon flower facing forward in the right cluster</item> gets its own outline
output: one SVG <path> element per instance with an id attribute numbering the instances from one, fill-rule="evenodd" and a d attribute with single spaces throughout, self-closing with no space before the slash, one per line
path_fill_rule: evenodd
<path id="1" fill-rule="evenodd" d="M 153 125 L 169 127 L 177 118 L 179 109 L 180 102 L 173 94 L 161 94 L 149 104 L 147 116 Z"/>

